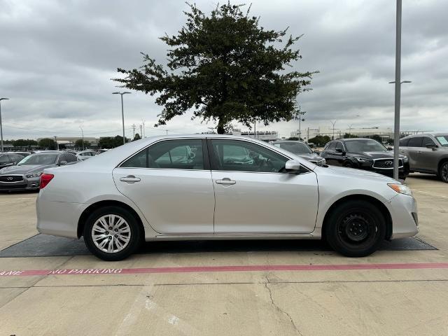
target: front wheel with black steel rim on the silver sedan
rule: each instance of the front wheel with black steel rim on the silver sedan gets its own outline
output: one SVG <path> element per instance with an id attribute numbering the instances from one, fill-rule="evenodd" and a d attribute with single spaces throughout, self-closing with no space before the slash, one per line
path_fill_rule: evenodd
<path id="1" fill-rule="evenodd" d="M 351 200 L 331 212 L 323 234 L 338 253 L 352 258 L 365 257 L 377 251 L 386 237 L 386 221 L 370 202 Z"/>

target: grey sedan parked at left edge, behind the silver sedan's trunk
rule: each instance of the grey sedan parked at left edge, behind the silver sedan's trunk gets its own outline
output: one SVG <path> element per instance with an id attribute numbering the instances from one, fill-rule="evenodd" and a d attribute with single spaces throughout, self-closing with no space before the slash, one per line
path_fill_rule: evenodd
<path id="1" fill-rule="evenodd" d="M 15 166 L 0 169 L 0 191 L 38 190 L 43 169 L 76 163 L 76 156 L 43 151 L 22 158 Z"/>

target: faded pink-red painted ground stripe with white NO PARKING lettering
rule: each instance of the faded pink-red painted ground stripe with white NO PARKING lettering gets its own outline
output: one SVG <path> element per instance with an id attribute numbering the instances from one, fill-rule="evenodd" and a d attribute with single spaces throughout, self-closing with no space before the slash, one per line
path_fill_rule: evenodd
<path id="1" fill-rule="evenodd" d="M 4 270 L 1 276 L 36 275 L 99 275 L 99 274 L 151 274 L 200 272 L 262 272 L 262 271 L 346 271 L 356 269 L 447 269 L 448 262 L 403 264 L 352 264 L 352 265 L 241 265 L 241 266 L 188 266 L 151 268 L 94 268 L 94 269 L 27 269 Z"/>

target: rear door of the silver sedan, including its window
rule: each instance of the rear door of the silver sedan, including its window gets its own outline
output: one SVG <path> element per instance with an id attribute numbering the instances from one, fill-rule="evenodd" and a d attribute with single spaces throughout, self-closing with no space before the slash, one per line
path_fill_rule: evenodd
<path id="1" fill-rule="evenodd" d="M 118 190 L 164 234 L 213 234 L 214 188 L 205 139 L 158 141 L 113 170 Z"/>

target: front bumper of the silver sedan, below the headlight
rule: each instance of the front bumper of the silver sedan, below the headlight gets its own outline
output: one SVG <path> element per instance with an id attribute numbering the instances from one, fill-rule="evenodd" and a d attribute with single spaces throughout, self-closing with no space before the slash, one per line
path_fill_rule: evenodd
<path id="1" fill-rule="evenodd" d="M 391 239 L 414 237 L 419 233 L 417 203 L 414 197 L 397 194 L 386 202 L 392 217 Z"/>

